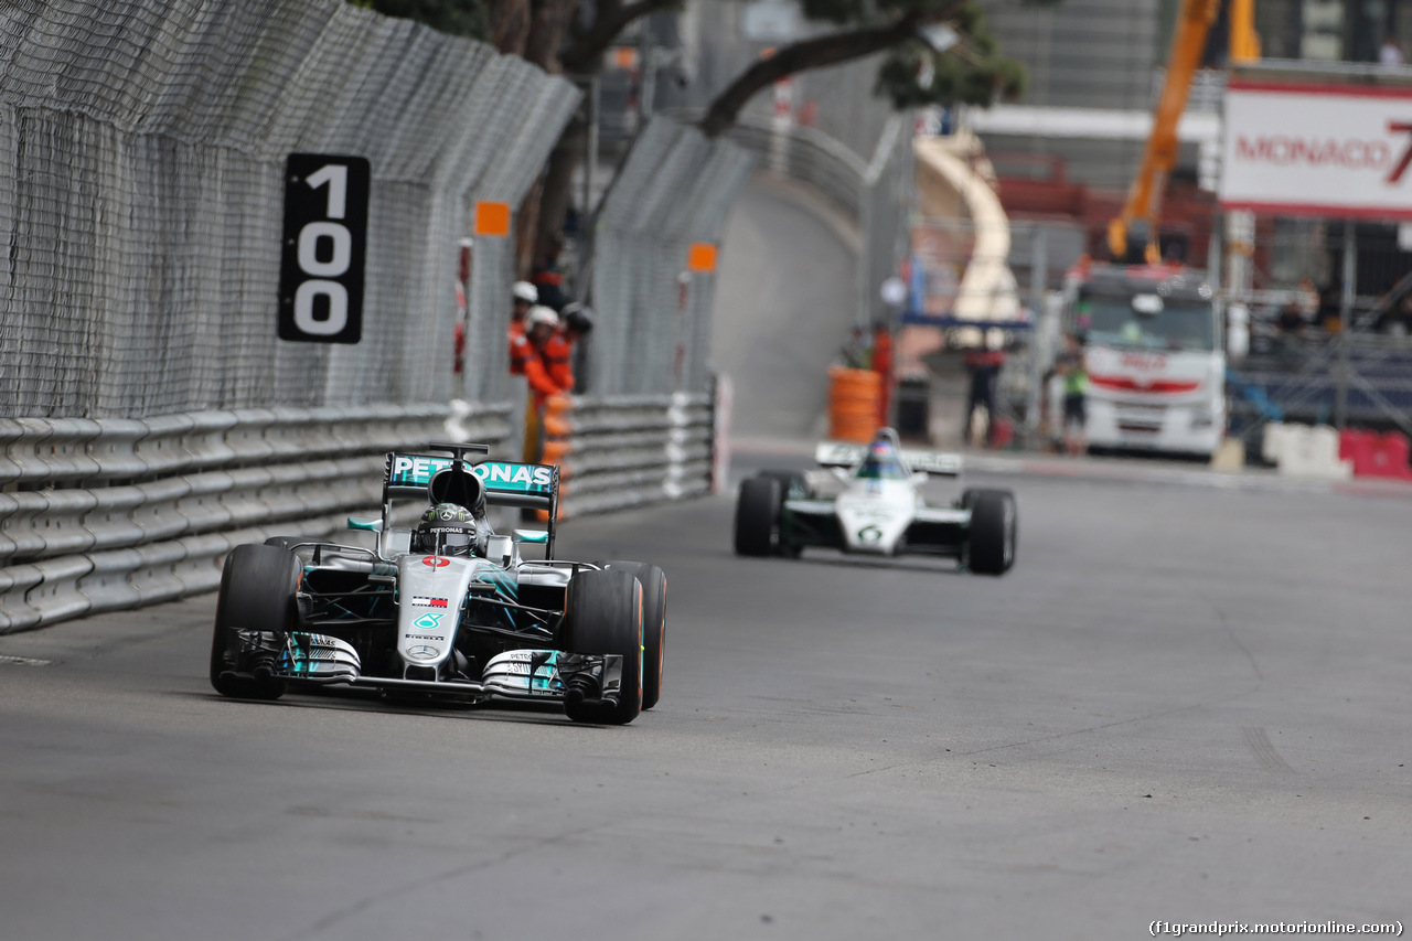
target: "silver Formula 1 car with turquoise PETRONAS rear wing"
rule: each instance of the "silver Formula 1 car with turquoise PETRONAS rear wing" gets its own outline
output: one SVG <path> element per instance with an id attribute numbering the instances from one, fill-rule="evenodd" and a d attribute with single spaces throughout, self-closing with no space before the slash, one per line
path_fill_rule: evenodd
<path id="1" fill-rule="evenodd" d="M 477 704 L 562 702 L 627 723 L 661 695 L 666 576 L 642 562 L 554 558 L 559 469 L 486 459 L 484 445 L 390 454 L 376 548 L 274 537 L 226 558 L 210 682 L 227 697 L 352 687 Z M 421 519 L 404 519 L 415 500 Z M 394 503 L 398 513 L 394 513 Z M 487 504 L 545 510 L 501 535 Z M 544 547 L 522 560 L 521 544 Z"/>

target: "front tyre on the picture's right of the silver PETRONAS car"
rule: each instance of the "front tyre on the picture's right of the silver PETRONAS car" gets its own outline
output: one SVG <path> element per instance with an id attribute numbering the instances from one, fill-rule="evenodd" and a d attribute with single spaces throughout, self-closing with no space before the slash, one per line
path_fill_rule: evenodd
<path id="1" fill-rule="evenodd" d="M 623 657 L 618 704 L 575 702 L 563 714 L 575 722 L 627 725 L 642 709 L 642 585 L 633 572 L 579 572 L 569 579 L 563 605 L 565 650 L 576 654 Z"/>

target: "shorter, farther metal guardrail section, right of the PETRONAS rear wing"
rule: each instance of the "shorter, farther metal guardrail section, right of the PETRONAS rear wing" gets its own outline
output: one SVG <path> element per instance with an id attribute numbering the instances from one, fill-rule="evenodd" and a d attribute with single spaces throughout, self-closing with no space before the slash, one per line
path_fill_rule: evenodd
<path id="1" fill-rule="evenodd" d="M 710 394 L 559 396 L 545 408 L 546 463 L 561 466 L 559 519 L 712 489 Z"/>

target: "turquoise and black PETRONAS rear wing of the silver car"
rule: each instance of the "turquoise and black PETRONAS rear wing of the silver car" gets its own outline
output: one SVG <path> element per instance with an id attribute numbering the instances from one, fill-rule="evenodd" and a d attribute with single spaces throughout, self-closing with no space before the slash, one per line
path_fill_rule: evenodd
<path id="1" fill-rule="evenodd" d="M 383 514 L 393 497 L 422 497 L 432 503 L 459 503 L 474 509 L 483 499 L 491 506 L 544 510 L 549 517 L 545 557 L 554 558 L 555 517 L 559 514 L 559 468 L 546 463 L 489 461 L 489 445 L 432 444 L 425 454 L 387 455 L 383 468 Z M 467 456 L 470 455 L 470 456 Z"/>

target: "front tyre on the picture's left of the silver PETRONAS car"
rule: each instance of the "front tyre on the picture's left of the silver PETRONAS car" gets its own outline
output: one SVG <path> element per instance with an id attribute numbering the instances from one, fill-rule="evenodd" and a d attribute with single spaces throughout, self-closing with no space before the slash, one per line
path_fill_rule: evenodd
<path id="1" fill-rule="evenodd" d="M 278 699 L 284 680 L 267 674 L 273 664 L 240 663 L 237 630 L 287 634 L 295 623 L 304 567 L 278 545 L 237 545 L 226 557 L 210 636 L 210 685 L 223 697 Z"/>

